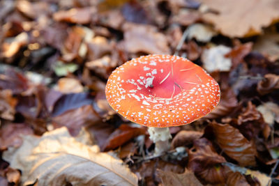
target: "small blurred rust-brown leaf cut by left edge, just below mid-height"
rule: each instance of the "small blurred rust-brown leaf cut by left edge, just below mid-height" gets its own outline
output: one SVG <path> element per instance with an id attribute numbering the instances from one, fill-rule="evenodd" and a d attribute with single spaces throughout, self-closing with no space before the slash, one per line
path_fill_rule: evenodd
<path id="1" fill-rule="evenodd" d="M 12 91 L 6 89 L 0 91 L 0 117 L 9 121 L 15 118 L 15 105 L 17 99 L 13 98 Z"/>

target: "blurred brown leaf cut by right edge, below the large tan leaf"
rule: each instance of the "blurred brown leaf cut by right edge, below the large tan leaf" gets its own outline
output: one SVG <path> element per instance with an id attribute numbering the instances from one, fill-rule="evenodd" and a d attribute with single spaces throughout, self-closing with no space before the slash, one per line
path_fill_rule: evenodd
<path id="1" fill-rule="evenodd" d="M 266 33 L 257 38 L 253 49 L 267 56 L 271 61 L 279 59 L 279 34 Z"/>

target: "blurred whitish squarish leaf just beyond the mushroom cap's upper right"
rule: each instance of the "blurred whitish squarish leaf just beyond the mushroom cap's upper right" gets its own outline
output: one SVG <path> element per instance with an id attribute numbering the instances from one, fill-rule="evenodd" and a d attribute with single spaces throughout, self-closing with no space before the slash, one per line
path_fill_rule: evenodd
<path id="1" fill-rule="evenodd" d="M 204 49 L 204 52 L 202 52 L 202 62 L 205 70 L 209 73 L 229 71 L 232 67 L 232 59 L 225 57 L 225 55 L 231 50 L 231 48 L 224 45 Z"/>

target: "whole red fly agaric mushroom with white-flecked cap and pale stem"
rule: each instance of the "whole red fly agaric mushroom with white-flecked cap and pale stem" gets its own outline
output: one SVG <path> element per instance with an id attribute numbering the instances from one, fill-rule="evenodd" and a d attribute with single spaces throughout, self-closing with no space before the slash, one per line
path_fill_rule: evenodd
<path id="1" fill-rule="evenodd" d="M 169 148 L 172 126 L 209 114 L 220 100 L 218 83 L 201 67 L 179 56 L 132 59 L 112 72 L 107 101 L 130 121 L 149 127 L 155 154 Z"/>

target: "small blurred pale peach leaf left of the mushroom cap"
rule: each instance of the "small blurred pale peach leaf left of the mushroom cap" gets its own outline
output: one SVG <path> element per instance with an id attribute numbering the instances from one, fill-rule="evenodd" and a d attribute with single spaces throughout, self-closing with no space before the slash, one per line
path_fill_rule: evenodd
<path id="1" fill-rule="evenodd" d="M 63 77 L 57 82 L 61 93 L 82 93 L 83 86 L 77 79 Z"/>

